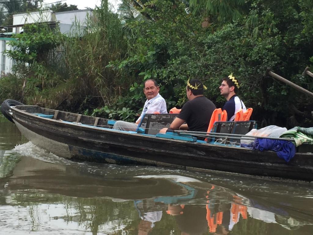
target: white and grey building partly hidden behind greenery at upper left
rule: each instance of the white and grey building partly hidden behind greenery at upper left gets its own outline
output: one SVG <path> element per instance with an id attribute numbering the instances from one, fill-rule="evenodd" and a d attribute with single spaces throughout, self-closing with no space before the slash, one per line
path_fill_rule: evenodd
<path id="1" fill-rule="evenodd" d="M 12 33 L 8 33 L 8 28 L 13 28 L 13 34 L 20 34 L 23 32 L 24 24 L 42 22 L 51 25 L 58 25 L 62 34 L 67 34 L 69 36 L 70 34 L 81 35 L 83 33 L 83 29 L 86 27 L 86 19 L 92 15 L 92 10 L 90 9 L 58 13 L 54 13 L 51 10 L 45 10 L 13 14 L 13 25 L 0 26 L 0 30 L 4 32 L 2 33 L 3 37 L 0 37 L 0 76 L 12 73 L 12 66 L 14 64 L 14 61 L 3 53 L 5 50 L 10 50 L 8 42 L 10 40 L 15 40 L 9 37 Z"/>

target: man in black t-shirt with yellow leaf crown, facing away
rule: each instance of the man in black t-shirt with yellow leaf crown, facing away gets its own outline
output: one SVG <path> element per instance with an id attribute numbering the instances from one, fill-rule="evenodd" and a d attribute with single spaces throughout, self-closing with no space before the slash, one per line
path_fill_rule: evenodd
<path id="1" fill-rule="evenodd" d="M 172 130 L 190 130 L 207 132 L 210 119 L 215 105 L 212 101 L 203 96 L 203 90 L 206 89 L 198 79 L 187 81 L 186 93 L 187 101 L 182 107 L 182 111 L 171 123 Z M 187 124 L 183 124 L 183 123 Z M 166 133 L 167 128 L 163 128 L 160 133 Z"/>

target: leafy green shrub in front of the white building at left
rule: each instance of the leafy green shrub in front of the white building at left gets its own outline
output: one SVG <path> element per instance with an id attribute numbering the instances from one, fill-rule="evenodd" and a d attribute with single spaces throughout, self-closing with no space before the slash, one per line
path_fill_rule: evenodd
<path id="1" fill-rule="evenodd" d="M 11 49 L 5 53 L 17 62 L 14 69 L 22 78 L 13 81 L 24 84 L 21 97 L 26 97 L 24 102 L 28 103 L 28 99 L 59 84 L 59 76 L 54 70 L 56 62 L 49 66 L 49 52 L 61 44 L 63 36 L 46 24 L 24 25 L 23 29 L 23 34 L 13 35 L 16 40 L 10 40 Z"/>

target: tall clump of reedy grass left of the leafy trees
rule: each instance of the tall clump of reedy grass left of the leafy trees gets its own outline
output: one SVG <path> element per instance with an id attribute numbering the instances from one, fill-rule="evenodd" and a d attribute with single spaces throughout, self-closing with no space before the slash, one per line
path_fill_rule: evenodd
<path id="1" fill-rule="evenodd" d="M 127 42 L 121 20 L 103 0 L 84 24 L 76 20 L 73 28 L 76 30 L 64 41 L 64 62 L 74 90 L 82 104 L 110 105 L 130 84 L 129 78 L 105 68 L 109 61 L 125 56 Z"/>

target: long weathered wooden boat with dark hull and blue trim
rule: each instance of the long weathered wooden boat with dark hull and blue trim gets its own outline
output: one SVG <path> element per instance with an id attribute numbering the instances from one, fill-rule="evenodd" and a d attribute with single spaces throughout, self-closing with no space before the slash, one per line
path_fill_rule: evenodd
<path id="1" fill-rule="evenodd" d="M 173 119 L 173 114 L 163 114 L 161 119 L 158 115 L 146 114 L 147 128 L 144 131 L 139 128 L 138 132 L 112 130 L 113 120 L 38 106 L 13 106 L 10 115 L 20 132 L 33 144 L 68 159 L 313 181 L 312 153 L 297 152 L 287 163 L 272 151 L 258 152 L 237 145 L 207 143 L 193 136 L 156 134 L 166 126 L 166 120 Z M 154 128 L 149 125 L 151 118 L 155 119 Z"/>

